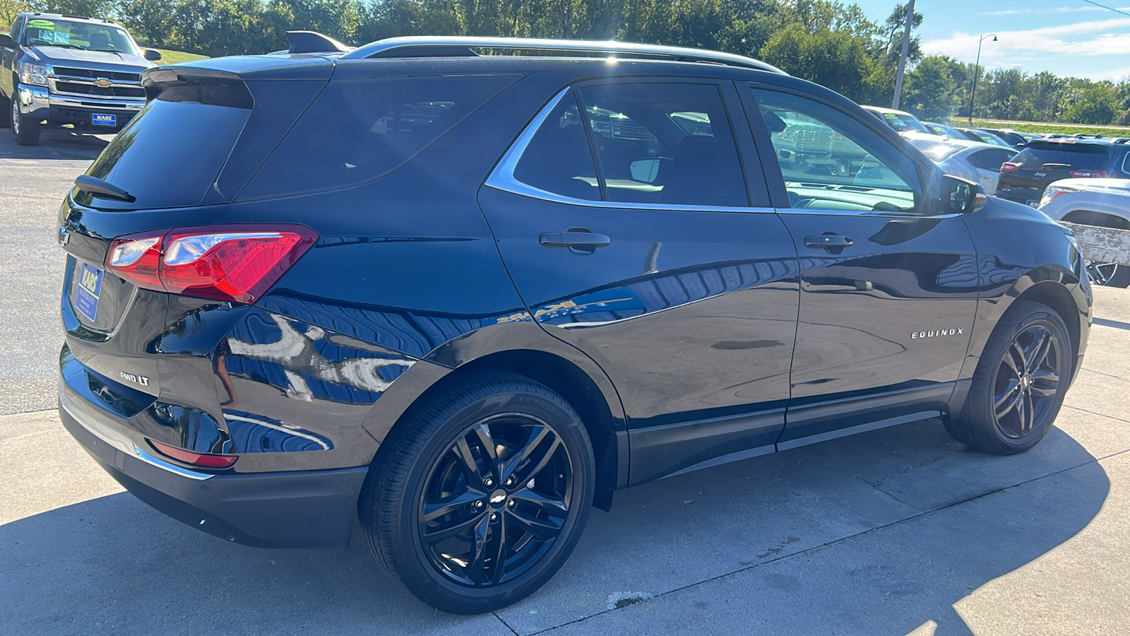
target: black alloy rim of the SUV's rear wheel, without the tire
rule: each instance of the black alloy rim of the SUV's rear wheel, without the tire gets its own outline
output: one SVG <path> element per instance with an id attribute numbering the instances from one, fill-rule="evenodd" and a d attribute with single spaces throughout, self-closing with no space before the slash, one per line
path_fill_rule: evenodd
<path id="1" fill-rule="evenodd" d="M 428 559 L 472 587 L 521 576 L 560 535 L 572 481 L 568 452 L 546 422 L 502 413 L 471 424 L 427 479 L 418 518 Z"/>

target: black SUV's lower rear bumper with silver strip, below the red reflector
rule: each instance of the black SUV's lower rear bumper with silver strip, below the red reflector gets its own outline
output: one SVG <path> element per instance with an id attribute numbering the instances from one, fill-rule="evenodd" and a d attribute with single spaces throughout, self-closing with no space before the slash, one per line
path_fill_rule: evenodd
<path id="1" fill-rule="evenodd" d="M 349 540 L 367 469 L 207 473 L 141 448 L 108 414 L 60 384 L 63 427 L 111 476 L 166 515 L 226 541 L 268 548 Z"/>

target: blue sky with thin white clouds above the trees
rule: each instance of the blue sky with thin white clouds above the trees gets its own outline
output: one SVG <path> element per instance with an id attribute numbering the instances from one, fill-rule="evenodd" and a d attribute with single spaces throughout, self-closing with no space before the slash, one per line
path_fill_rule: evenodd
<path id="1" fill-rule="evenodd" d="M 849 2 L 851 0 L 847 0 Z M 1098 0 L 1130 14 L 1130 0 Z M 883 22 L 897 0 L 855 0 L 868 17 Z M 918 33 L 927 53 L 964 62 L 977 54 L 986 68 L 1092 79 L 1130 78 L 1130 16 L 1101 9 L 1084 0 L 915 0 L 924 19 Z"/>

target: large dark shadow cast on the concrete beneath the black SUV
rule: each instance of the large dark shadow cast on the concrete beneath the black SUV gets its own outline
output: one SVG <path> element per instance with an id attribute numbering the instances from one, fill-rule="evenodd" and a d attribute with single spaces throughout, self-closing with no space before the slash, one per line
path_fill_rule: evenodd
<path id="1" fill-rule="evenodd" d="M 359 532 L 344 549 L 246 548 L 112 495 L 0 526 L 0 625 L 6 634 L 529 634 L 607 611 L 624 594 L 711 581 L 729 612 L 688 601 L 681 628 L 664 628 L 638 603 L 594 620 L 637 612 L 612 633 L 753 629 L 737 618 L 747 605 L 767 633 L 905 634 L 927 620 L 939 634 L 968 633 L 954 603 L 1078 533 L 1110 481 L 1058 429 L 1027 454 L 992 457 L 940 428 L 916 422 L 617 493 L 611 513 L 593 512 L 558 576 L 497 617 L 418 602 L 379 570 Z"/>

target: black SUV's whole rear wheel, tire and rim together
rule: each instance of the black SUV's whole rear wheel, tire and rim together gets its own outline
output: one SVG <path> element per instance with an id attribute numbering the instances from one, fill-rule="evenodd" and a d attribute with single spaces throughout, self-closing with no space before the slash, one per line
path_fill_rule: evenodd
<path id="1" fill-rule="evenodd" d="M 544 385 L 485 371 L 406 423 L 358 502 L 376 560 L 452 613 L 508 605 L 549 581 L 592 506 L 596 461 L 576 411 Z"/>

